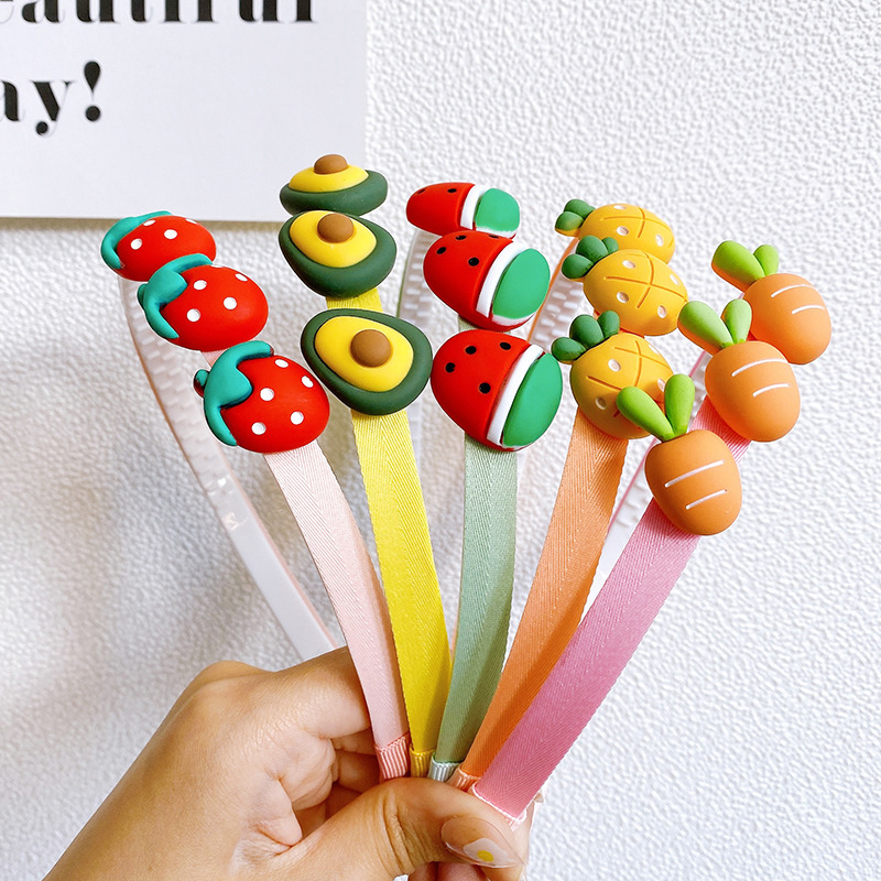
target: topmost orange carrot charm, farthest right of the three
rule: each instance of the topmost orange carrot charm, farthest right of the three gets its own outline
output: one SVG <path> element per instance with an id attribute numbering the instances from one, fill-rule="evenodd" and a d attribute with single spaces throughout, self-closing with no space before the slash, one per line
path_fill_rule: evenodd
<path id="1" fill-rule="evenodd" d="M 716 274 L 743 291 L 752 306 L 752 336 L 780 349 L 791 365 L 806 365 L 829 345 L 829 313 L 812 284 L 777 272 L 779 263 L 770 244 L 750 253 L 736 241 L 724 241 L 713 255 Z"/>

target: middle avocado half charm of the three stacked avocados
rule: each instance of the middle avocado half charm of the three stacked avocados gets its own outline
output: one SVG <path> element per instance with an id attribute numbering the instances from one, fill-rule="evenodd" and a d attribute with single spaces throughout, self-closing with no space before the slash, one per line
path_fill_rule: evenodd
<path id="1" fill-rule="evenodd" d="M 382 227 L 326 210 L 292 217 L 279 232 L 279 244 L 303 283 L 326 297 L 360 296 L 377 287 L 398 253 Z"/>

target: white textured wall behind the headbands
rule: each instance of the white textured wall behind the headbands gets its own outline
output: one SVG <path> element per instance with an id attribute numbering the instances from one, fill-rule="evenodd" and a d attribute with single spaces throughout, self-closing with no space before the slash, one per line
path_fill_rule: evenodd
<path id="1" fill-rule="evenodd" d="M 750 449 L 739 521 L 701 543 L 554 776 L 531 877 L 878 878 L 878 4 L 369 6 L 367 162 L 391 181 L 379 219 L 399 240 L 406 195 L 436 180 L 514 193 L 523 238 L 548 257 L 566 199 L 634 200 L 675 227 L 693 296 L 720 307 L 730 293 L 709 269 L 720 239 L 766 240 L 834 319 L 828 354 L 797 371 L 801 423 Z M 280 183 L 293 171 L 280 156 Z M 104 228 L 0 221 L 10 879 L 42 877 L 200 667 L 292 661 L 155 406 L 98 259 Z M 319 304 L 293 283 L 274 228 L 214 230 L 220 260 L 267 287 L 268 338 L 295 355 Z M 689 363 L 688 348 L 674 352 Z M 570 414 L 524 464 L 521 605 Z M 342 415 L 323 444 L 363 514 Z M 456 443 L 436 424 L 447 461 L 426 494 L 452 610 Z M 326 611 L 270 478 L 236 461 Z"/>

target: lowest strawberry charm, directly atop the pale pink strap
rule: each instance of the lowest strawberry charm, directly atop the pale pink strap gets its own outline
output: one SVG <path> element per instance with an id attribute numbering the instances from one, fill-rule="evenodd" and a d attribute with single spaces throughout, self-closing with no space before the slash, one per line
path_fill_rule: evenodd
<path id="1" fill-rule="evenodd" d="M 318 380 L 268 342 L 227 349 L 196 373 L 205 418 L 219 440 L 254 453 L 283 453 L 311 444 L 330 415 Z"/>

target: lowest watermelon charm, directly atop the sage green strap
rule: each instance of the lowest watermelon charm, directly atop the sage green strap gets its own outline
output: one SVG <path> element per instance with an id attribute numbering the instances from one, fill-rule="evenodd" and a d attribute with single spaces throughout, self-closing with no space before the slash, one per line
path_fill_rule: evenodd
<path id="1" fill-rule="evenodd" d="M 563 376 L 552 356 L 523 339 L 464 330 L 437 350 L 432 391 L 469 437 L 494 449 L 520 449 L 553 422 Z"/>

